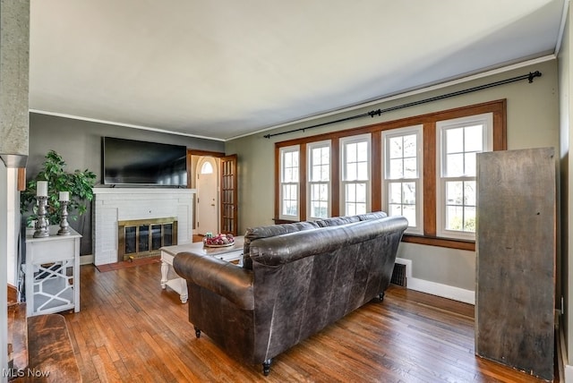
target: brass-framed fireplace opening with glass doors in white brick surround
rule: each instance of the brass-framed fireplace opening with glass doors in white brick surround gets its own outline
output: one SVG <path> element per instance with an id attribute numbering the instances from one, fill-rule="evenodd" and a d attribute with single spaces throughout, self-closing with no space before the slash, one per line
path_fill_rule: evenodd
<path id="1" fill-rule="evenodd" d="M 177 244 L 177 218 L 117 222 L 118 261 L 159 255 L 163 246 Z"/>

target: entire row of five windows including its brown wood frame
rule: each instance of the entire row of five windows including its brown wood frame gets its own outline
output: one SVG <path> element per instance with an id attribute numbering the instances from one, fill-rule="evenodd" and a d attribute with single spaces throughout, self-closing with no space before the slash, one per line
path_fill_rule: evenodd
<path id="1" fill-rule="evenodd" d="M 275 143 L 278 222 L 386 211 L 402 241 L 475 250 L 477 154 L 507 149 L 506 100 Z"/>

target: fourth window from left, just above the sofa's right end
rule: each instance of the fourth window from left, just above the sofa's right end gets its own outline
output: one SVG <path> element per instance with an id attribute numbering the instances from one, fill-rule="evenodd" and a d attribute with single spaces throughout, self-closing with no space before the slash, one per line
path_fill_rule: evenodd
<path id="1" fill-rule="evenodd" d="M 382 133 L 382 207 L 408 220 L 406 233 L 423 234 L 422 128 L 416 125 Z"/>

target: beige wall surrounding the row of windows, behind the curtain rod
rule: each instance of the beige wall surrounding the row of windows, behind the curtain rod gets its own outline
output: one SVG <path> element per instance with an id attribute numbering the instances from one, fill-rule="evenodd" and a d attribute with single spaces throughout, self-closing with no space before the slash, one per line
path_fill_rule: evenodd
<path id="1" fill-rule="evenodd" d="M 392 121 L 398 118 L 423 115 L 459 106 L 468 106 L 501 98 L 508 100 L 508 149 L 553 147 L 559 148 L 559 104 L 557 60 L 539 60 L 535 64 L 500 72 L 485 78 L 458 83 L 448 88 L 434 89 L 423 94 L 372 104 L 346 114 L 332 115 L 307 123 L 296 123 L 269 131 L 284 132 L 325 121 L 338 120 L 348 115 L 358 115 L 389 106 L 402 105 L 415 100 L 431 98 L 453 91 L 502 81 L 528 72 L 540 71 L 543 75 L 533 83 L 517 81 L 491 89 L 412 106 L 374 118 L 337 123 L 306 132 L 294 132 L 271 139 L 263 138 L 268 132 L 253 134 L 228 141 L 227 154 L 238 155 L 239 174 L 239 232 L 249 226 L 272 225 L 274 209 L 274 143 L 298 137 L 312 136 L 371 123 Z M 461 301 L 472 301 L 475 290 L 475 252 L 457 251 L 433 246 L 402 243 L 398 257 L 412 260 L 412 284 L 416 289 L 440 294 Z"/>

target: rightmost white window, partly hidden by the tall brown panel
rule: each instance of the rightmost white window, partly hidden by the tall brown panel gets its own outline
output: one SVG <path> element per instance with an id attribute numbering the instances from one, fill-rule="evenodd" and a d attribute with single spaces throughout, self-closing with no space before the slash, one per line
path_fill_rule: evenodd
<path id="1" fill-rule="evenodd" d="M 476 154 L 492 150 L 492 114 L 440 121 L 437 233 L 475 240 Z"/>

